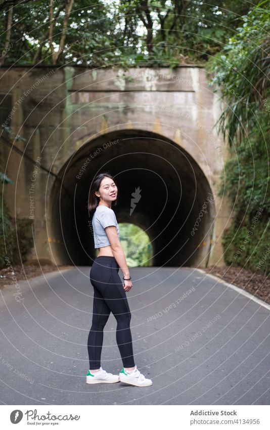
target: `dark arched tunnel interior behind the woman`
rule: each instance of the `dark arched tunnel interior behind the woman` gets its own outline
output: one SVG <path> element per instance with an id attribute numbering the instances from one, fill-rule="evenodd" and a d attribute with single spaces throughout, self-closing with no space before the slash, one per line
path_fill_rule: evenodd
<path id="1" fill-rule="evenodd" d="M 85 160 L 85 170 L 81 170 Z M 205 267 L 215 219 L 203 171 L 181 146 L 157 133 L 117 130 L 81 146 L 65 163 L 50 194 L 51 244 L 58 264 L 92 265 L 96 256 L 89 187 L 101 172 L 114 176 L 118 223 L 141 227 L 153 247 L 153 266 Z M 139 188 L 139 190 L 138 190 Z M 141 199 L 130 215 L 132 193 Z M 121 234 L 121 231 L 120 231 Z"/>

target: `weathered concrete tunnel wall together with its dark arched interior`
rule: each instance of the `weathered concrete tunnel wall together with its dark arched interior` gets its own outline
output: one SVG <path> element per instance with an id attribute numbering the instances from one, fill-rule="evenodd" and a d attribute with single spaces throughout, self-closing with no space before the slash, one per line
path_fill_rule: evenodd
<path id="1" fill-rule="evenodd" d="M 223 263 L 221 238 L 231 208 L 217 191 L 228 154 L 213 129 L 220 104 L 205 70 L 14 67 L 1 68 L 0 83 L 1 122 L 26 138 L 16 146 L 58 176 L 3 149 L 16 182 L 5 188 L 5 198 L 14 216 L 33 219 L 29 261 L 91 263 L 88 188 L 106 170 L 121 193 L 118 222 L 147 230 L 155 265 Z M 137 187 L 142 199 L 129 216 Z"/>

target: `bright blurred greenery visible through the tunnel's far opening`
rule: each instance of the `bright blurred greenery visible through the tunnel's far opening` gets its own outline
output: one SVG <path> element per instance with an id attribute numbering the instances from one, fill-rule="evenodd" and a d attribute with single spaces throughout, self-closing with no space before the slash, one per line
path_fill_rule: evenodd
<path id="1" fill-rule="evenodd" d="M 119 223 L 120 242 L 129 267 L 151 266 L 152 246 L 147 234 L 137 225 Z"/>

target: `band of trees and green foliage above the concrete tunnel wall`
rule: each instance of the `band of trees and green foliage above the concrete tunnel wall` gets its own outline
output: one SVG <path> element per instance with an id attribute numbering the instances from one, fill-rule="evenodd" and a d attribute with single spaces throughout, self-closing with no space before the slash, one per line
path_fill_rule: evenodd
<path id="1" fill-rule="evenodd" d="M 5 64 L 175 67 L 204 63 L 234 35 L 239 16 L 250 9 L 244 0 L 74 0 L 64 29 L 66 3 L 70 0 L 53 3 L 50 44 L 50 2 L 17 2 L 8 46 L 10 2 L 2 5 L 0 24 L 6 32 L 0 36 L 0 49 Z M 54 63 L 52 46 L 57 52 L 63 36 L 64 47 Z"/>

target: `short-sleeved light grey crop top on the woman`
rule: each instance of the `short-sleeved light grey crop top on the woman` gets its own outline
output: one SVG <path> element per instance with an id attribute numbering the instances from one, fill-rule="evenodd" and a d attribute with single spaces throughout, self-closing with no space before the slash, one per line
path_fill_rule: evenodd
<path id="1" fill-rule="evenodd" d="M 118 237 L 120 237 L 119 227 L 115 213 L 107 206 L 97 206 L 92 218 L 92 225 L 94 231 L 95 248 L 102 248 L 104 246 L 110 245 L 109 239 L 105 231 L 105 227 L 108 227 L 109 225 L 115 225 Z"/>

